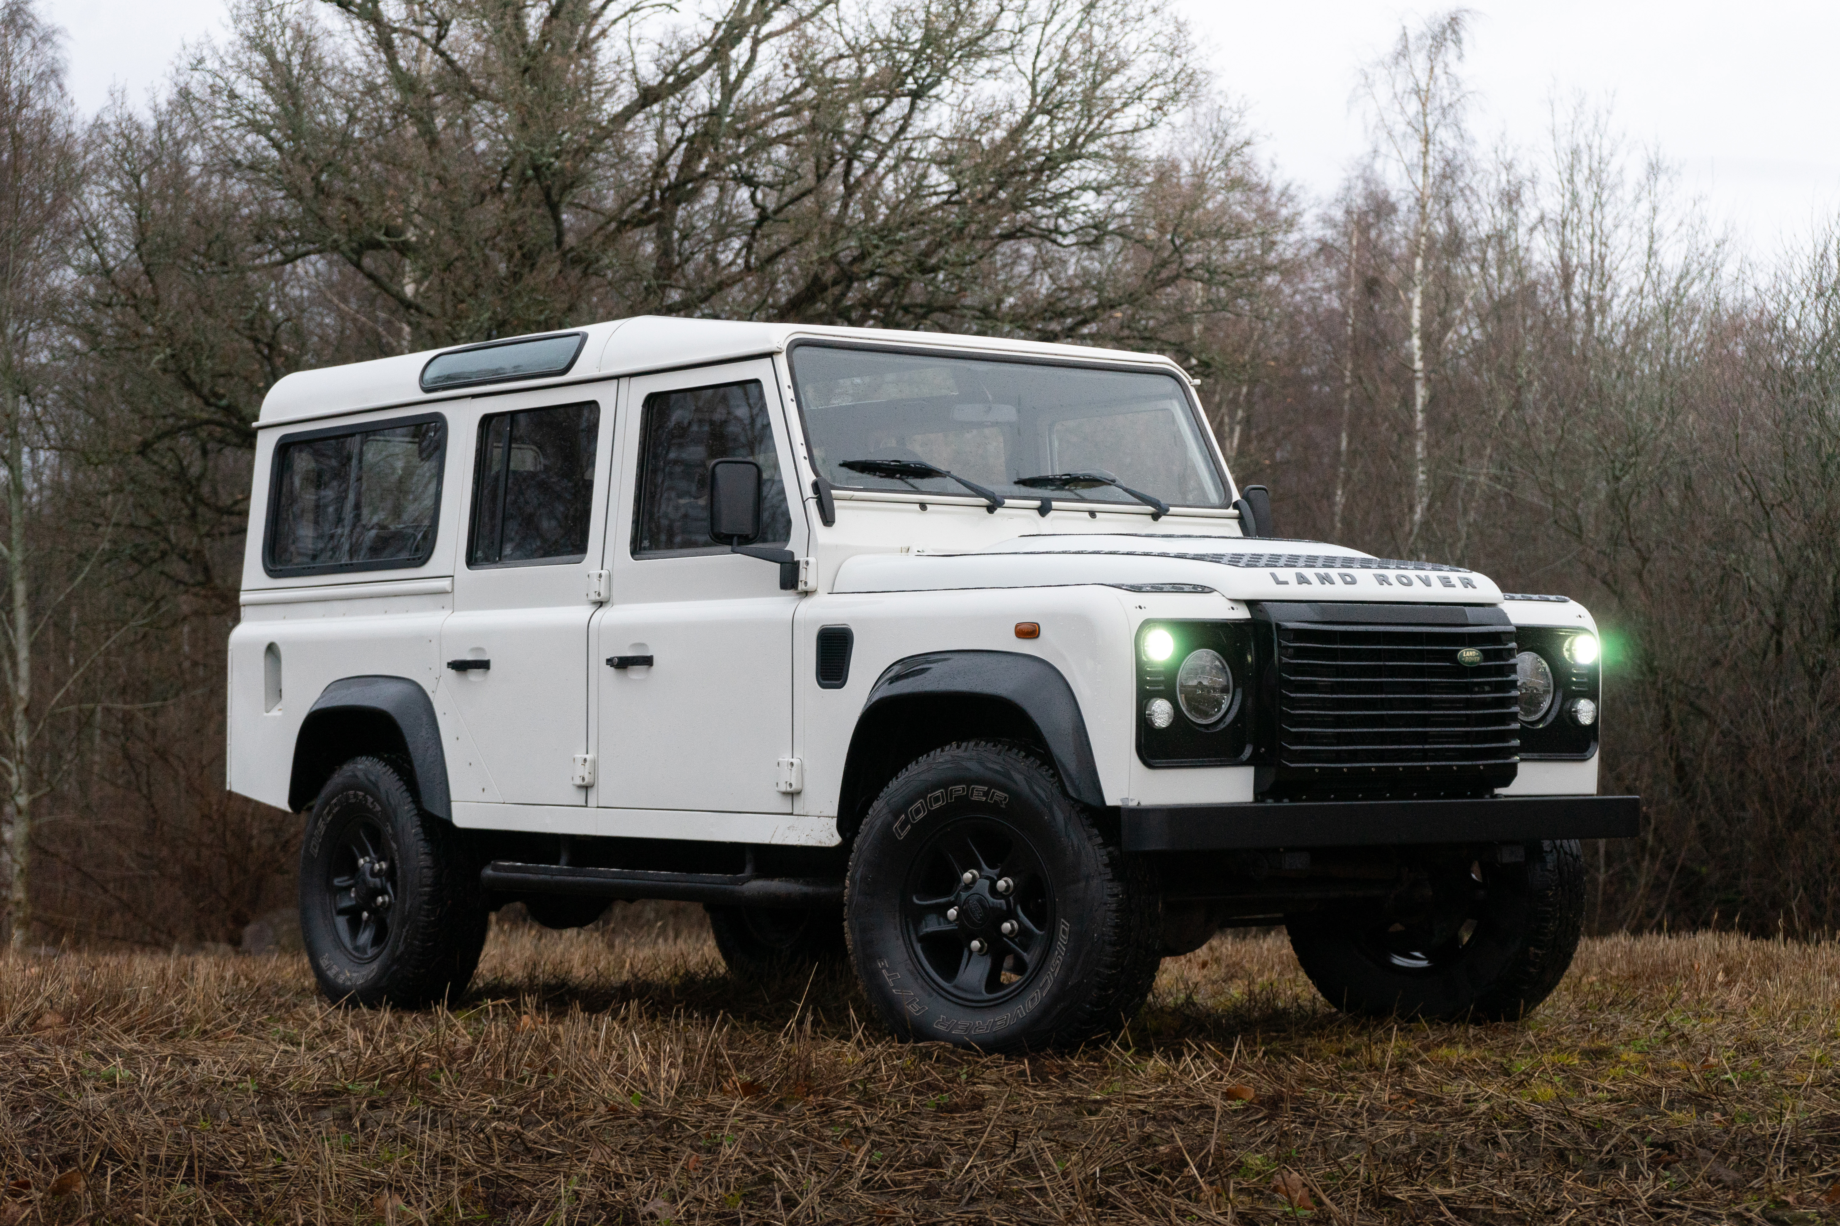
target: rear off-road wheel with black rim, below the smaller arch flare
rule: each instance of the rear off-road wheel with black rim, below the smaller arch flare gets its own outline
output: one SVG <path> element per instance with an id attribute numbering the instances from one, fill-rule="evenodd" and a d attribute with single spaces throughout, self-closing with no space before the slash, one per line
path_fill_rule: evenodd
<path id="1" fill-rule="evenodd" d="M 362 836 L 362 838 L 361 838 Z M 386 869 L 359 879 L 355 847 L 374 846 Z M 381 930 L 366 947 L 351 912 L 362 880 L 388 890 Z M 362 904 L 357 904 L 362 908 Z M 359 910 L 357 915 L 366 912 Z M 364 921 L 368 923 L 368 921 Z M 320 991 L 333 1002 L 421 1007 L 466 991 L 486 945 L 486 895 L 466 838 L 416 803 L 403 776 L 353 757 L 326 781 L 300 847 L 300 932 Z M 368 950 L 368 952 L 366 952 Z"/>

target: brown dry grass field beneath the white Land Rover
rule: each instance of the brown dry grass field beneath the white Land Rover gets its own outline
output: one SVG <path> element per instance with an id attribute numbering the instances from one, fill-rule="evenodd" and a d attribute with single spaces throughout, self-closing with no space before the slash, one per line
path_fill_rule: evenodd
<path id="1" fill-rule="evenodd" d="M 1595 939 L 1466 1027 L 1216 937 L 1119 1042 L 1003 1059 L 738 983 L 692 908 L 604 923 L 497 928 L 431 1013 L 300 956 L 0 959 L 0 1226 L 1840 1220 L 1834 943 Z"/>

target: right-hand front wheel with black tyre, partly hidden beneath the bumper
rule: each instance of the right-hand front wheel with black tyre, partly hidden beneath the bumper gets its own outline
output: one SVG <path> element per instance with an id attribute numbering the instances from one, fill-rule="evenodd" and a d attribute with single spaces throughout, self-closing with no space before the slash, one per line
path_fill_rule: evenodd
<path id="1" fill-rule="evenodd" d="M 1328 1004 L 1363 1016 L 1507 1022 L 1564 978 L 1584 930 L 1577 840 L 1525 844 L 1520 862 L 1470 855 L 1415 866 L 1386 902 L 1286 917 L 1290 947 Z"/>

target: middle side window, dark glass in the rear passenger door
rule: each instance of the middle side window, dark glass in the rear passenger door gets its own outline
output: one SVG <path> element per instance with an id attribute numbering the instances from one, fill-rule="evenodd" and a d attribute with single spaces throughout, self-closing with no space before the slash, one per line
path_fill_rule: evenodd
<path id="1" fill-rule="evenodd" d="M 587 557 L 598 436 L 592 401 L 486 417 L 473 461 L 467 566 Z"/>

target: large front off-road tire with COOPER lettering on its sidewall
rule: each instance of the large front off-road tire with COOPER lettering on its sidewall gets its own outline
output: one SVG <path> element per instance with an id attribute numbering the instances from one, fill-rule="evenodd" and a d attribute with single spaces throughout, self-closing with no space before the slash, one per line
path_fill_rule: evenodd
<path id="1" fill-rule="evenodd" d="M 1014 838 L 1019 851 L 1003 842 Z M 938 904 L 922 906 L 920 897 L 937 890 L 929 882 L 951 877 L 929 873 L 946 860 L 955 866 L 946 849 L 966 840 L 1006 846 L 992 858 L 1032 868 L 1016 877 L 1014 895 L 1003 897 L 994 893 L 1005 880 L 1001 866 L 966 869 L 977 873 L 975 884 L 951 879 L 966 895 L 953 915 L 973 915 L 953 919 L 948 932 L 944 915 L 931 912 Z M 966 862 L 983 864 L 988 849 L 973 851 Z M 1034 879 L 1040 890 L 1025 884 Z M 975 910 L 970 893 L 979 897 Z M 1119 1033 L 1143 1007 L 1161 961 L 1148 864 L 1126 857 L 1047 765 L 990 741 L 935 750 L 881 790 L 850 853 L 845 917 L 856 972 L 896 1037 L 983 1051 L 1073 1046 Z M 1027 919 L 1027 956 L 1005 943 L 1008 937 L 995 937 L 1005 917 Z M 964 928 L 968 923 L 988 928 Z M 986 937 L 981 956 L 992 974 L 972 961 L 970 941 Z M 957 952 L 955 939 L 964 941 Z M 960 971 L 948 978 L 953 958 Z M 1012 976 L 1008 967 L 1021 971 Z"/>

